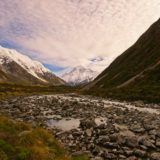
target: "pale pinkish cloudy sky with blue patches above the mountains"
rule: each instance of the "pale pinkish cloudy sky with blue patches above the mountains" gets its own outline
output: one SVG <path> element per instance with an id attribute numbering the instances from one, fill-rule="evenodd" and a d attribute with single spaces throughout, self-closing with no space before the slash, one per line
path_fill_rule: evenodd
<path id="1" fill-rule="evenodd" d="M 0 45 L 54 72 L 100 72 L 159 17 L 159 0 L 0 0 Z"/>

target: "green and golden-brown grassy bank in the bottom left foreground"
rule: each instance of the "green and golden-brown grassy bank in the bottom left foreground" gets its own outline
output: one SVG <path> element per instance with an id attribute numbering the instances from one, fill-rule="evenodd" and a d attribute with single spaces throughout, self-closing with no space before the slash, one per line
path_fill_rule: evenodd
<path id="1" fill-rule="evenodd" d="M 42 128 L 0 116 L 0 160 L 88 160 L 70 157 L 52 134 Z"/>

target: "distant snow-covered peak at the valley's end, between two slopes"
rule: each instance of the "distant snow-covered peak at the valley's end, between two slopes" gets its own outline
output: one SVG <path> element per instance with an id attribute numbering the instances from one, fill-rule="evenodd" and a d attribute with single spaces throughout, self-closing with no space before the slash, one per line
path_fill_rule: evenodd
<path id="1" fill-rule="evenodd" d="M 77 66 L 64 74 L 61 74 L 60 77 L 68 84 L 76 86 L 92 81 L 97 75 L 98 72 L 96 71 L 83 66 Z"/>

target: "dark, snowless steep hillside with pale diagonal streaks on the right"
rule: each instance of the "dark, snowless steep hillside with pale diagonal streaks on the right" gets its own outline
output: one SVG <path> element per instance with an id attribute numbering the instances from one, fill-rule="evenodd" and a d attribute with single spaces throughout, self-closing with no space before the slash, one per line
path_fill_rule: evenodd
<path id="1" fill-rule="evenodd" d="M 101 95 L 154 99 L 160 96 L 160 19 L 85 89 Z"/>

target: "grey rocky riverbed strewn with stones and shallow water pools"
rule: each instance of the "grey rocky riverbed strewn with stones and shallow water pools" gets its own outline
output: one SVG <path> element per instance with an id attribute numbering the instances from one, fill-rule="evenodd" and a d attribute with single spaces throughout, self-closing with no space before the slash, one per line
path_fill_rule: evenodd
<path id="1" fill-rule="evenodd" d="M 76 155 L 92 160 L 160 160 L 160 106 L 50 95 L 0 102 L 0 114 L 54 132 Z"/>

